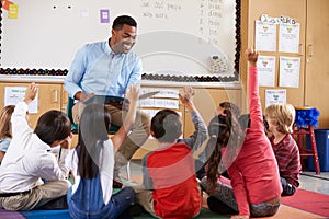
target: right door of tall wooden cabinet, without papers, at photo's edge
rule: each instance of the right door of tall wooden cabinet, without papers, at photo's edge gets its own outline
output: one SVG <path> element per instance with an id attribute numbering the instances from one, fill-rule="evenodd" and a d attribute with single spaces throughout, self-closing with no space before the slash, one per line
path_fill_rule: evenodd
<path id="1" fill-rule="evenodd" d="M 319 128 L 329 128 L 329 1 L 307 1 L 305 105 L 320 112 Z"/>

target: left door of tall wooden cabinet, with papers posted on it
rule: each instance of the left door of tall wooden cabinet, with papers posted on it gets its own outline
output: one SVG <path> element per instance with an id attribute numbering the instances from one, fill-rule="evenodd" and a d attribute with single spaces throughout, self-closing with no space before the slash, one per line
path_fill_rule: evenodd
<path id="1" fill-rule="evenodd" d="M 317 1 L 317 0 L 316 0 Z M 326 0 L 324 0 L 326 1 Z M 305 82 L 305 32 L 306 32 L 306 0 L 249 0 L 248 9 L 245 11 L 248 13 L 248 18 L 242 14 L 243 18 L 248 20 L 248 30 L 245 30 L 245 33 L 248 34 L 248 47 L 254 46 L 254 22 L 260 20 L 262 14 L 268 14 L 271 18 L 288 16 L 297 21 L 300 24 L 300 34 L 299 34 L 299 53 L 290 54 L 290 53 L 270 53 L 261 51 L 261 55 L 264 56 L 275 56 L 276 58 L 276 72 L 275 72 L 275 87 L 261 87 L 259 92 L 261 96 L 262 106 L 265 106 L 265 90 L 266 89 L 285 89 L 287 93 L 287 103 L 291 103 L 295 106 L 304 105 L 304 82 Z M 242 20 L 242 26 L 246 26 L 246 21 Z M 276 28 L 279 35 L 279 27 Z M 242 35 L 245 34 L 242 32 Z M 246 38 L 246 36 L 243 36 Z M 276 41 L 276 48 L 279 48 L 279 39 Z M 246 49 L 246 47 L 243 48 Z M 245 50 L 241 50 L 241 66 L 245 69 L 242 74 L 242 82 L 247 84 L 247 60 L 245 58 Z M 299 57 L 300 58 L 300 73 L 299 73 L 299 87 L 298 88 L 282 88 L 279 87 L 279 70 L 280 70 L 280 56 L 287 57 Z M 247 88 L 245 85 L 245 88 Z"/>

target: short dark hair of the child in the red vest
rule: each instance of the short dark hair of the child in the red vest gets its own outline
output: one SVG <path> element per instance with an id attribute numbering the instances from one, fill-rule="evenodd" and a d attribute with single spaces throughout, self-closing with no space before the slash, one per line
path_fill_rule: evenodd
<path id="1" fill-rule="evenodd" d="M 166 108 L 152 117 L 150 128 L 160 142 L 174 142 L 182 134 L 182 122 L 175 111 Z"/>

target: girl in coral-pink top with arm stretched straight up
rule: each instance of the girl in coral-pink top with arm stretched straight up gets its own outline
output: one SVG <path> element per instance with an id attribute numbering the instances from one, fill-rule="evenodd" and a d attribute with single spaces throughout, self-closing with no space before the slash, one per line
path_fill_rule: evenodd
<path id="1" fill-rule="evenodd" d="M 279 209 L 282 192 L 275 157 L 264 132 L 256 67 L 259 54 L 251 48 L 246 55 L 250 64 L 250 128 L 246 130 L 246 138 L 241 138 L 242 130 L 229 110 L 212 119 L 208 145 L 215 142 L 215 150 L 208 162 L 207 177 L 203 180 L 206 192 L 217 198 L 211 205 L 208 201 L 211 209 L 220 209 L 222 205 L 216 204 L 225 204 L 238 214 L 231 218 L 273 216 Z M 225 147 L 223 157 L 222 147 Z M 228 194 L 231 192 L 227 189 L 229 186 L 217 183 L 218 166 L 219 173 L 223 168 L 228 170 L 234 196 Z M 226 200 L 227 196 L 232 198 Z"/>

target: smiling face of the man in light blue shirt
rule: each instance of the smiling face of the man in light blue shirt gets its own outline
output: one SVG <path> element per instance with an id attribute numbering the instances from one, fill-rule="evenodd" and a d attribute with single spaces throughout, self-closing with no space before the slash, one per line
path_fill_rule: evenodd
<path id="1" fill-rule="evenodd" d="M 136 37 L 136 27 L 124 24 L 121 30 L 112 30 L 111 48 L 115 54 L 126 54 L 133 48 Z"/>

